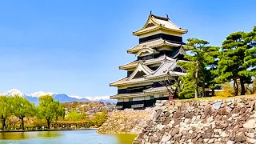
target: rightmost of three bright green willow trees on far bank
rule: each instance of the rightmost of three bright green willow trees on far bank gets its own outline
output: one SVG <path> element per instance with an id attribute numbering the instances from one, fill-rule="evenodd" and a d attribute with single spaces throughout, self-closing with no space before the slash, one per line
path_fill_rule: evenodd
<path id="1" fill-rule="evenodd" d="M 39 98 L 38 118 L 46 118 L 48 128 L 53 120 L 62 118 L 64 113 L 64 108 L 59 105 L 59 102 L 55 102 L 52 96 L 45 95 Z"/>

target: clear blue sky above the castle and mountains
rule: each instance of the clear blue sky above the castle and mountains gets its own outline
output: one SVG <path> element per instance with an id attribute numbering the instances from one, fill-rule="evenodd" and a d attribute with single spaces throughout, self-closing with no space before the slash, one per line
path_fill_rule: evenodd
<path id="1" fill-rule="evenodd" d="M 117 93 L 109 83 L 126 76 L 118 66 L 150 10 L 186 28 L 186 38 L 220 46 L 232 32 L 256 25 L 254 0 L 245 1 L 2 1 L 0 92 L 16 88 L 78 96 Z"/>

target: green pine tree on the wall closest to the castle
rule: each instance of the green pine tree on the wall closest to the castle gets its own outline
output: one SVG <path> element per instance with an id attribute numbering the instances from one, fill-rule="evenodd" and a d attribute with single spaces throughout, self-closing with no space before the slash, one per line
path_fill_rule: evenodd
<path id="1" fill-rule="evenodd" d="M 193 98 L 195 91 L 204 96 L 205 87 L 214 89 L 215 70 L 217 68 L 217 56 L 219 47 L 209 46 L 209 42 L 198 38 L 189 38 L 186 44 L 185 58 L 190 62 L 179 62 L 187 72 L 186 76 L 182 76 L 181 82 L 184 87 L 180 94 L 180 98 Z M 198 74 L 197 74 L 198 73 Z M 196 78 L 196 74 L 198 78 Z"/>

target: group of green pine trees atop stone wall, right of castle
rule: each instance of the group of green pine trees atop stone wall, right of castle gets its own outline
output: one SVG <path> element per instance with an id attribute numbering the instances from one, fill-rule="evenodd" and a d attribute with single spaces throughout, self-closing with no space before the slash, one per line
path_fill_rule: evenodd
<path id="1" fill-rule="evenodd" d="M 228 35 L 222 46 L 210 46 L 210 42 L 198 38 L 187 41 L 185 58 L 190 62 L 178 62 L 187 74 L 171 83 L 176 89 L 170 90 L 170 96 L 198 98 L 255 94 L 256 26 L 250 32 Z M 220 87 L 224 91 L 215 93 Z"/>

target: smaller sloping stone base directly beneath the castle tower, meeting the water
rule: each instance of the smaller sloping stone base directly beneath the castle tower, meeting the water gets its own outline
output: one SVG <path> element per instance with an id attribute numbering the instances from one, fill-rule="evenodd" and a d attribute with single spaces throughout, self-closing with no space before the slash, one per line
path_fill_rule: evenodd
<path id="1" fill-rule="evenodd" d="M 153 108 L 116 110 L 98 129 L 98 134 L 138 134 L 152 119 Z"/>

